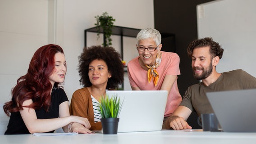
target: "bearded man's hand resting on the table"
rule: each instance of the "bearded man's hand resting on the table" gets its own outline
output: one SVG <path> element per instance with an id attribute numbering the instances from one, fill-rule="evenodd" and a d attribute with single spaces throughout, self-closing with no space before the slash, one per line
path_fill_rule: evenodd
<path id="1" fill-rule="evenodd" d="M 187 124 L 187 121 L 185 121 L 183 117 L 178 116 L 171 116 L 169 118 L 169 126 L 174 130 L 192 129 L 192 127 Z"/>

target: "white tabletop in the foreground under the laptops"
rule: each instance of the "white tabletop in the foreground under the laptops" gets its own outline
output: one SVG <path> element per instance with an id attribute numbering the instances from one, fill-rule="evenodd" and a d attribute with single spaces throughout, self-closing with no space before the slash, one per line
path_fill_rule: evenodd
<path id="1" fill-rule="evenodd" d="M 255 144 L 256 133 L 161 130 L 117 135 L 0 135 L 1 144 Z"/>

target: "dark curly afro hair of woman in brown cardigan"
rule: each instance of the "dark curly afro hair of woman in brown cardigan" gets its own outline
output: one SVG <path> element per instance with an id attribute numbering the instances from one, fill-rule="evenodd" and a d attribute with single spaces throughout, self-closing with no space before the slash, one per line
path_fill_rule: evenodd
<path id="1" fill-rule="evenodd" d="M 113 47 L 102 47 L 100 45 L 84 48 L 82 54 L 78 57 L 78 73 L 81 77 L 79 82 L 84 87 L 91 86 L 88 76 L 89 64 L 95 59 L 102 59 L 108 66 L 111 77 L 107 82 L 107 89 L 113 90 L 123 83 L 123 63 L 121 56 Z"/>

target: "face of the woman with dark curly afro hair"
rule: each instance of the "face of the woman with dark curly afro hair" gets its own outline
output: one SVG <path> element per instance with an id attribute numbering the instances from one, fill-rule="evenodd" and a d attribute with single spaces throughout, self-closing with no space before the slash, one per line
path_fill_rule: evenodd
<path id="1" fill-rule="evenodd" d="M 88 76 L 92 85 L 102 85 L 106 87 L 111 74 L 104 60 L 95 59 L 89 64 Z"/>

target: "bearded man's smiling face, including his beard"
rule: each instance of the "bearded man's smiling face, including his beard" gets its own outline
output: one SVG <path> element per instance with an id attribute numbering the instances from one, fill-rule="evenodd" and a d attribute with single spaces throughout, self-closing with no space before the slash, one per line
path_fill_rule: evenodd
<path id="1" fill-rule="evenodd" d="M 213 65 L 210 47 L 200 47 L 193 50 L 192 69 L 197 80 L 206 79 L 212 73 Z"/>

